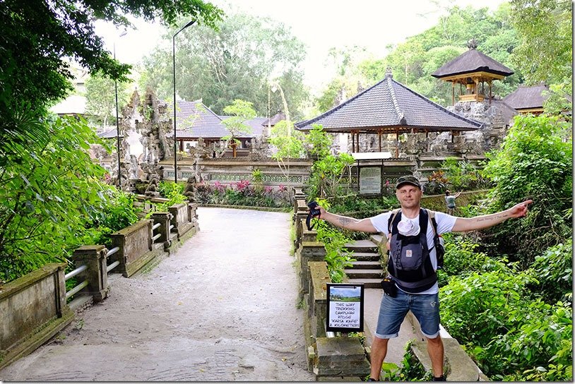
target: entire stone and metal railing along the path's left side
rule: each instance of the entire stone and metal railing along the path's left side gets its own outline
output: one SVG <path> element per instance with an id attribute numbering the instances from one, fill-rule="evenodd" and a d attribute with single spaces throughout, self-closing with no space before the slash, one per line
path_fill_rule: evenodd
<path id="1" fill-rule="evenodd" d="M 108 273 L 130 277 L 169 256 L 198 228 L 196 204 L 155 212 L 151 220 L 112 234 L 112 249 L 85 245 L 71 260 L 78 266 L 64 275 L 65 263 L 53 263 L 0 287 L 0 369 L 30 354 L 71 323 L 80 310 L 109 295 Z M 173 212 L 173 213 L 172 213 Z M 173 224 L 172 224 L 173 223 Z M 65 281 L 82 284 L 66 292 Z M 66 298 L 73 299 L 66 304 Z"/>

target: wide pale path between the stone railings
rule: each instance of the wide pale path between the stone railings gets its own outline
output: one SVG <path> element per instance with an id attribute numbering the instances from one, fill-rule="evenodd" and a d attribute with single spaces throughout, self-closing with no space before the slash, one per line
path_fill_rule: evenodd
<path id="1" fill-rule="evenodd" d="M 201 232 L 0 371 L 9 381 L 311 381 L 290 215 L 199 208 Z"/>

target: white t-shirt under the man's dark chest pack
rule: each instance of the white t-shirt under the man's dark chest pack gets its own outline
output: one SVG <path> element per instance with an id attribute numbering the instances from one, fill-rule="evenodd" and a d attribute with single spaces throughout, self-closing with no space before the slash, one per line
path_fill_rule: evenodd
<path id="1" fill-rule="evenodd" d="M 369 219 L 372 221 L 374 228 L 377 229 L 378 232 L 385 234 L 388 237 L 388 239 L 389 239 L 388 222 L 391 215 L 393 215 L 392 211 L 381 213 Z M 420 215 L 413 217 L 413 219 L 401 215 L 401 220 L 410 220 L 411 222 L 413 222 L 413 224 L 419 226 Z M 444 234 L 446 232 L 451 232 L 451 229 L 453 229 L 456 220 L 457 217 L 455 216 L 447 215 L 444 212 L 435 212 L 435 222 L 437 222 L 437 233 Z M 433 244 L 433 227 L 431 222 L 429 222 L 429 220 L 427 222 L 427 248 L 431 249 L 431 251 L 429 252 L 429 258 L 431 259 L 433 269 L 437 270 L 437 256 Z M 427 291 L 419 292 L 419 294 L 436 294 L 437 292 L 439 292 L 439 285 L 436 282 L 433 285 L 433 287 L 427 289 Z"/>

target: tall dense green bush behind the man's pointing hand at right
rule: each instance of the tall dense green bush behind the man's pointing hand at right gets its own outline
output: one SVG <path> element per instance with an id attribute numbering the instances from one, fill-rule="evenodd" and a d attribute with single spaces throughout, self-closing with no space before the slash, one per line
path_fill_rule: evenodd
<path id="1" fill-rule="evenodd" d="M 543 250 L 572 235 L 572 140 L 562 140 L 566 123 L 548 116 L 516 116 L 502 149 L 489 155 L 483 174 L 496 184 L 491 212 L 533 199 L 529 215 L 488 230 L 501 253 L 526 267 Z"/>

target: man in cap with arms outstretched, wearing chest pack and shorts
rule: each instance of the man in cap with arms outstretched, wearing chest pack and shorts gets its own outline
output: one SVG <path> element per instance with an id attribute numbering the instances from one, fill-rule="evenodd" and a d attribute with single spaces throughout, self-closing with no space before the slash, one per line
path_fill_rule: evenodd
<path id="1" fill-rule="evenodd" d="M 396 196 L 401 210 L 381 213 L 357 220 L 334 215 L 322 207 L 321 220 L 337 227 L 360 232 L 382 232 L 388 238 L 388 272 L 391 282 L 384 288 L 379 318 L 372 344 L 372 370 L 369 380 L 379 380 L 381 364 L 387 353 L 389 339 L 398 336 L 405 315 L 411 311 L 427 338 L 427 351 L 432 361 L 433 380 L 444 381 L 444 347 L 439 336 L 439 287 L 437 285 L 437 253 L 434 246 L 434 226 L 437 234 L 485 229 L 511 217 L 527 214 L 532 200 L 523 201 L 502 212 L 476 217 L 454 217 L 443 212 L 421 209 L 421 184 L 414 176 L 402 176 L 396 184 Z M 435 223 L 432 224 L 432 217 Z M 442 260 L 440 260 L 441 263 Z"/>

